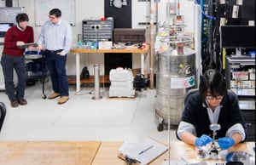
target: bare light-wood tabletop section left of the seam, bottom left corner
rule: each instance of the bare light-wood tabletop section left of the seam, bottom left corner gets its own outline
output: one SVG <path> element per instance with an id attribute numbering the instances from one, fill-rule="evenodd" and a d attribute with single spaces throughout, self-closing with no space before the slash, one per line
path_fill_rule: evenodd
<path id="1" fill-rule="evenodd" d="M 0 141 L 1 165 L 90 165 L 100 141 Z"/>

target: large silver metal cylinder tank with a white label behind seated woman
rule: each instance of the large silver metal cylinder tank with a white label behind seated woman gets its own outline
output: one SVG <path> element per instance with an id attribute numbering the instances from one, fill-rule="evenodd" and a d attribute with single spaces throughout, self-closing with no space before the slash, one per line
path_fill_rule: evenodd
<path id="1" fill-rule="evenodd" d="M 195 86 L 195 51 L 183 39 L 167 37 L 162 42 L 156 54 L 155 115 L 159 121 L 177 125 L 184 95 Z"/>

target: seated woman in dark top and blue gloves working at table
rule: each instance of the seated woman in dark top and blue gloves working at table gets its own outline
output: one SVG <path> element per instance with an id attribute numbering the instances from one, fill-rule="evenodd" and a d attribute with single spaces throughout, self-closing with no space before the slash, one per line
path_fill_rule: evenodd
<path id="1" fill-rule="evenodd" d="M 224 150 L 246 139 L 237 96 L 228 91 L 224 77 L 216 70 L 206 71 L 199 91 L 185 101 L 177 138 L 195 146 L 207 145 L 213 140 L 212 123 L 220 125 L 215 139 Z"/>

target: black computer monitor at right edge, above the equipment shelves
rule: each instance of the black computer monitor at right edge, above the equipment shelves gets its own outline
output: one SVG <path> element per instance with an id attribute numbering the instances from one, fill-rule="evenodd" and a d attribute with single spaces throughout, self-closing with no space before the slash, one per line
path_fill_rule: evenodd
<path id="1" fill-rule="evenodd" d="M 221 26 L 221 48 L 255 48 L 255 26 Z"/>

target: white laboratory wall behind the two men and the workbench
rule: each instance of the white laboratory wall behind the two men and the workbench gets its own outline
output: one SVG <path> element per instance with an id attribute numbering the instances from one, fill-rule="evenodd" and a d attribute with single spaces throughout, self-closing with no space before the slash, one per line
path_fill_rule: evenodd
<path id="1" fill-rule="evenodd" d="M 82 20 L 94 19 L 98 20 L 104 16 L 104 1 L 102 0 L 75 0 L 76 1 L 76 26 L 73 26 L 73 45 L 76 45 L 78 34 L 82 33 Z M 129 0 L 127 1 L 130 2 Z M 167 0 L 160 0 L 159 3 L 159 21 L 166 20 L 166 3 Z M 24 7 L 23 11 L 29 15 L 29 25 L 34 27 L 35 41 L 41 30 L 40 26 L 35 26 L 35 9 L 34 1 L 32 0 L 13 0 L 14 7 Z M 194 32 L 194 2 L 191 0 L 180 0 L 181 10 L 180 14 L 184 15 L 185 31 Z M 5 6 L 5 1 L 0 0 L 0 7 Z M 58 8 L 56 6 L 56 8 Z M 62 11 L 64 13 L 65 11 Z M 146 28 L 148 26 L 138 26 L 137 22 L 148 22 L 149 3 L 138 2 L 132 0 L 132 26 L 136 28 Z M 65 18 L 64 18 L 65 19 Z M 1 21 L 1 20 L 0 20 Z M 101 65 L 100 74 L 104 74 L 104 56 L 103 54 L 81 54 L 81 70 L 83 66 L 89 67 L 90 74 L 93 75 L 93 65 Z M 146 59 L 146 67 L 148 66 L 148 58 Z M 67 58 L 67 74 L 75 75 L 75 55 L 68 54 Z M 140 56 L 133 54 L 132 56 L 133 68 L 140 67 Z"/>

